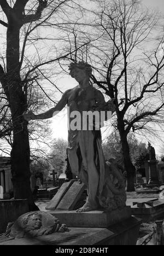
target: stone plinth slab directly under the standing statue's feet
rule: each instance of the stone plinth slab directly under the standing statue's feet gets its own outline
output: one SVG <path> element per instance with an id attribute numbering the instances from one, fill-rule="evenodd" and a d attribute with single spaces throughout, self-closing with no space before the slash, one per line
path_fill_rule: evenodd
<path id="1" fill-rule="evenodd" d="M 60 219 L 68 227 L 74 228 L 107 228 L 110 225 L 121 222 L 122 220 L 131 217 L 131 207 L 126 206 L 121 210 L 112 212 L 90 211 L 90 212 L 75 212 L 75 211 L 50 211 L 50 214 Z"/>

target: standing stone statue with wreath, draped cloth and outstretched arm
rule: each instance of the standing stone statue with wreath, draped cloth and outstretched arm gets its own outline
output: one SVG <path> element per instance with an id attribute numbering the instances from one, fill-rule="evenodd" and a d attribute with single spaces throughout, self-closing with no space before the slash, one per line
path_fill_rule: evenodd
<path id="1" fill-rule="evenodd" d="M 69 70 L 79 84 L 67 90 L 54 108 L 38 115 L 32 112 L 24 113 L 24 118 L 27 121 L 51 118 L 67 104 L 69 108 L 67 155 L 72 173 L 87 185 L 88 191 L 86 203 L 77 212 L 99 208 L 112 211 L 124 207 L 126 203 L 124 177 L 114 164 L 106 164 L 101 146 L 100 128 L 104 120 L 109 119 L 108 113 L 110 112 L 111 115 L 114 113 L 115 99 L 106 102 L 102 92 L 91 85 L 92 68 L 88 63 L 73 62 Z M 89 117 L 86 121 L 84 119 L 86 112 L 96 114 L 93 119 Z M 76 120 L 74 113 L 77 115 Z M 105 113 L 103 120 L 97 119 L 100 113 Z M 75 123 L 78 125 L 75 126 Z"/>

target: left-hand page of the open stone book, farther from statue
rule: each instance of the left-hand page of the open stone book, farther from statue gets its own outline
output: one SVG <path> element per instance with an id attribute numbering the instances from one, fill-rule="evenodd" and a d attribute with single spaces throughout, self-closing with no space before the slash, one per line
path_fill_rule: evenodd
<path id="1" fill-rule="evenodd" d="M 45 207 L 46 210 L 53 211 L 58 206 L 58 203 L 62 200 L 63 196 L 66 194 L 67 190 L 71 187 L 74 181 L 65 182 L 61 185 L 60 189 L 58 189 L 55 196 L 51 199 L 48 205 Z"/>

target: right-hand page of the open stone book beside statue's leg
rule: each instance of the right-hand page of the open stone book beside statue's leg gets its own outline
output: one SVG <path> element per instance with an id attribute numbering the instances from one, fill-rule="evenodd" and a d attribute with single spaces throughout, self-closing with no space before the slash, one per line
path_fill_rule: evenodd
<path id="1" fill-rule="evenodd" d="M 79 183 L 78 181 L 75 181 L 71 185 L 71 187 L 69 187 L 67 193 L 65 193 L 65 195 L 62 197 L 62 200 L 57 206 L 57 210 L 74 210 L 74 206 L 80 199 L 85 188 L 86 186 L 84 185 L 84 183 Z"/>

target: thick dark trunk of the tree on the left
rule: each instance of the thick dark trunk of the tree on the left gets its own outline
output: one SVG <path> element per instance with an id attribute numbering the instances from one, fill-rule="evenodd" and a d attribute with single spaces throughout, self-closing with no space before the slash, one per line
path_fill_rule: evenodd
<path id="1" fill-rule="evenodd" d="M 9 22 L 7 31 L 7 83 L 13 123 L 13 147 L 11 150 L 11 173 L 15 199 L 28 199 L 30 211 L 39 210 L 34 204 L 30 187 L 30 145 L 27 122 L 22 114 L 27 100 L 20 78 L 20 27 Z"/>

